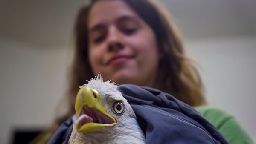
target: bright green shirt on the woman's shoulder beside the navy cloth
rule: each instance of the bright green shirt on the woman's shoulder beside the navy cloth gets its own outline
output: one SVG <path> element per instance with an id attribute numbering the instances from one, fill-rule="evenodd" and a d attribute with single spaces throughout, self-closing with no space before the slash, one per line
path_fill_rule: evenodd
<path id="1" fill-rule="evenodd" d="M 230 144 L 254 144 L 233 115 L 211 106 L 197 106 L 194 108 L 204 115 Z"/>

